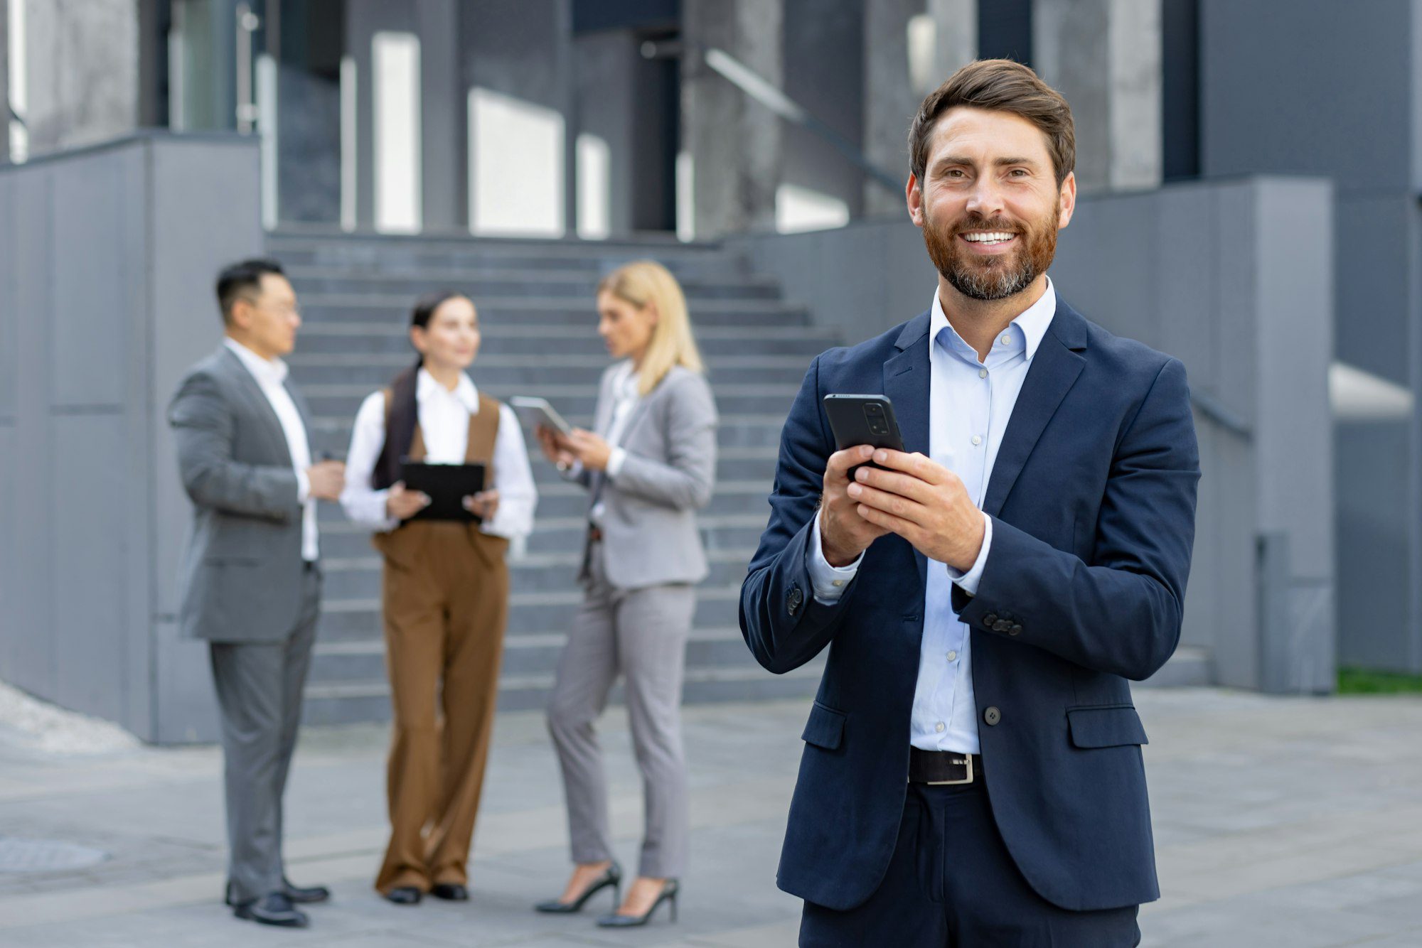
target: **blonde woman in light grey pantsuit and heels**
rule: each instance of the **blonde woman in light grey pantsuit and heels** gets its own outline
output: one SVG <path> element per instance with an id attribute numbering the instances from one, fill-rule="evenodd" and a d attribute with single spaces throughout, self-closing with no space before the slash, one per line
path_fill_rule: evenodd
<path id="1" fill-rule="evenodd" d="M 539 429 L 543 453 L 587 488 L 584 597 L 557 665 L 547 709 L 567 797 L 572 878 L 538 905 L 574 912 L 611 887 L 620 907 L 597 920 L 643 925 L 661 903 L 677 911 L 687 860 L 681 679 L 707 574 L 695 512 L 715 479 L 715 401 L 691 334 L 687 301 L 660 263 L 629 263 L 597 287 L 597 333 L 617 360 L 603 372 L 596 431 Z M 620 900 L 607 833 L 607 786 L 593 722 L 624 678 L 646 830 L 637 878 Z"/>

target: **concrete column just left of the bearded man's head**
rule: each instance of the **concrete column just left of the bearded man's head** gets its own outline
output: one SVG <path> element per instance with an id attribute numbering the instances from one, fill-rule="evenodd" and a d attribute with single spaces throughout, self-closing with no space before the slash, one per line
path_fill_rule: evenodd
<path id="1" fill-rule="evenodd" d="M 923 98 L 977 55 L 977 0 L 865 0 L 865 155 L 909 178 L 909 124 Z M 903 196 L 865 185 L 865 213 Z"/>

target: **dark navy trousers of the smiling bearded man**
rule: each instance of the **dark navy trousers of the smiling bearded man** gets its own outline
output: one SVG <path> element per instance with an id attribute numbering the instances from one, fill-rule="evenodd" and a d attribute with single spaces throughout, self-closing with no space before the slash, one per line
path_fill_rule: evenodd
<path id="1" fill-rule="evenodd" d="M 1136 907 L 1075 912 L 1038 895 L 998 836 L 981 782 L 909 785 L 899 841 L 863 905 L 805 903 L 802 948 L 1128 948 Z"/>

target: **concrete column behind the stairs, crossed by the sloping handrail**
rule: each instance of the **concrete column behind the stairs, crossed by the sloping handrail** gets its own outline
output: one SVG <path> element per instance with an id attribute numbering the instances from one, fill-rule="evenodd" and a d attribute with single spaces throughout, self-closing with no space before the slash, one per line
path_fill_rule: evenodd
<path id="1" fill-rule="evenodd" d="M 775 226 L 781 118 L 707 68 L 720 48 L 771 85 L 784 81 L 784 0 L 687 0 L 683 33 L 683 151 L 690 165 L 693 233 L 717 237 Z M 678 222 L 678 230 L 681 229 Z"/>

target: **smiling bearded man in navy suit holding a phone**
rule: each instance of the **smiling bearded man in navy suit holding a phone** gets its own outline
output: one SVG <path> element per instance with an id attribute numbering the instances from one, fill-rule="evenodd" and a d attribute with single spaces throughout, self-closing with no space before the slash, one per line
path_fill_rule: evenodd
<path id="1" fill-rule="evenodd" d="M 741 631 L 778 674 L 829 652 L 778 874 L 801 945 L 1125 948 L 1159 898 L 1128 682 L 1180 637 L 1199 452 L 1185 367 L 1047 276 L 1075 149 L 1018 63 L 930 94 L 933 301 L 820 354 L 785 422 Z M 892 399 L 903 452 L 836 451 L 848 392 Z"/>

